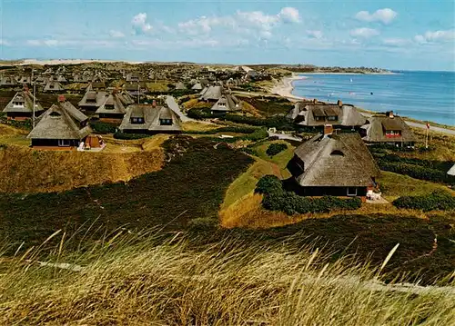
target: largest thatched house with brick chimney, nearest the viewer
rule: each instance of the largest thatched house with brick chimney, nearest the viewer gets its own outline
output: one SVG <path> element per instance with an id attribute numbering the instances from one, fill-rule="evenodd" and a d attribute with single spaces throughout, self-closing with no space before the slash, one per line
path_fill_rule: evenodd
<path id="1" fill-rule="evenodd" d="M 304 196 L 361 197 L 376 187 L 379 167 L 359 133 L 333 133 L 326 125 L 295 150 L 288 170 Z"/>

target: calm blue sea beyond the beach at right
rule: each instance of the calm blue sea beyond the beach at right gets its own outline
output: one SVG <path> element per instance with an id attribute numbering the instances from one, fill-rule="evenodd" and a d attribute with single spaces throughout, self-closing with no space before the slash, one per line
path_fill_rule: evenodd
<path id="1" fill-rule="evenodd" d="M 455 125 L 455 72 L 393 73 L 299 74 L 305 79 L 293 82 L 292 94 Z"/>

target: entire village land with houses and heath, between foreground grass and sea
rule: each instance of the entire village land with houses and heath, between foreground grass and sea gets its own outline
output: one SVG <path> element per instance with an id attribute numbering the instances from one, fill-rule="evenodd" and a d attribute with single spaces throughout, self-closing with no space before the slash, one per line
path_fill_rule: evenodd
<path id="1" fill-rule="evenodd" d="M 295 69 L 4 66 L 2 234 L 35 245 L 94 223 L 298 231 L 338 251 L 354 239 L 365 255 L 382 245 L 378 261 L 400 242 L 390 271 L 427 269 L 425 282 L 450 272 L 454 137 L 391 111 L 277 94 Z M 445 253 L 426 256 L 435 248 Z"/>

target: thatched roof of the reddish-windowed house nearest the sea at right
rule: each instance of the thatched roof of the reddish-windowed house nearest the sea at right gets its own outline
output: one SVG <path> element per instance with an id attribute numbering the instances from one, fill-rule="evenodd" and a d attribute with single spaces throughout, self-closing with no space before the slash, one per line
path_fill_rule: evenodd
<path id="1" fill-rule="evenodd" d="M 369 123 L 362 125 L 366 136 L 362 139 L 369 143 L 408 143 L 417 142 L 417 137 L 410 130 L 408 124 L 401 117 L 395 115 L 389 117 L 387 115 L 375 115 L 370 117 Z M 399 131 L 400 136 L 387 137 L 387 131 Z"/>

